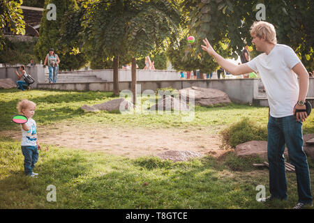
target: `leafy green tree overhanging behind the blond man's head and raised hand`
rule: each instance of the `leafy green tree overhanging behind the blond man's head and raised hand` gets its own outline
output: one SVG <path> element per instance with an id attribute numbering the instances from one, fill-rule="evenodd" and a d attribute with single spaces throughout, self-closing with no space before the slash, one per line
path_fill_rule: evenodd
<path id="1" fill-rule="evenodd" d="M 278 43 L 292 47 L 307 68 L 313 66 L 313 1 L 191 0 L 184 1 L 182 7 L 189 12 L 187 23 L 197 35 L 197 45 L 205 37 L 216 46 L 227 38 L 232 57 L 237 59 L 244 40 L 251 45 L 249 29 L 256 20 L 257 3 L 261 2 L 266 6 L 266 21 L 276 27 Z"/>

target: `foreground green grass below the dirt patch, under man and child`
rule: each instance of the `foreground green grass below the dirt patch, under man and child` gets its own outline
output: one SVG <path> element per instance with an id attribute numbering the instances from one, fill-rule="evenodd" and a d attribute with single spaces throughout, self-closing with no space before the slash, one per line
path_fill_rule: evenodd
<path id="1" fill-rule="evenodd" d="M 259 159 L 233 153 L 174 163 L 50 146 L 40 151 L 38 178 L 24 176 L 23 159 L 20 142 L 0 137 L 0 208 L 291 208 L 297 203 L 290 173 L 288 201 L 258 203 L 255 187 L 265 185 L 268 191 L 268 171 L 252 167 Z M 57 188 L 56 202 L 46 200 L 48 185 Z"/>

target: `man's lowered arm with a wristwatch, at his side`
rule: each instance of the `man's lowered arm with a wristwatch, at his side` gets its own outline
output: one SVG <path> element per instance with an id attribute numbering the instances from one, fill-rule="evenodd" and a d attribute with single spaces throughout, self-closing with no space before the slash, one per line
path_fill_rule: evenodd
<path id="1" fill-rule="evenodd" d="M 303 100 L 305 102 L 306 95 L 308 94 L 308 72 L 306 71 L 306 68 L 304 68 L 301 62 L 297 63 L 297 65 L 294 66 L 292 70 L 299 76 L 298 100 Z M 296 109 L 306 109 L 306 106 L 296 105 L 293 109 L 293 114 L 295 114 Z M 301 119 L 302 121 L 305 121 L 308 115 L 306 114 L 306 112 L 297 112 L 296 117 L 297 120 Z"/>

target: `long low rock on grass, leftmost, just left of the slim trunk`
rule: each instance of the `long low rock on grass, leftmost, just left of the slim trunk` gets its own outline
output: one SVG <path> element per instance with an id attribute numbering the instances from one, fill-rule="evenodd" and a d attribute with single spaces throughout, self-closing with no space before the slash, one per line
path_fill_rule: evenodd
<path id="1" fill-rule="evenodd" d="M 81 109 L 83 109 L 84 112 L 97 112 L 100 110 L 108 111 L 108 112 L 120 111 L 121 103 L 123 103 L 121 107 L 122 109 L 128 110 L 133 107 L 133 104 L 129 102 L 128 100 L 125 100 L 124 98 L 117 98 L 114 100 L 103 102 L 102 104 L 98 104 L 98 105 L 93 105 L 93 106 L 83 105 Z"/>

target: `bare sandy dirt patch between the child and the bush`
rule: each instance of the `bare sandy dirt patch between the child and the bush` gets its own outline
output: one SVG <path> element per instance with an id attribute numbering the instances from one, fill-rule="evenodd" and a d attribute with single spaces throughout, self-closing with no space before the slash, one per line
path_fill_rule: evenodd
<path id="1" fill-rule="evenodd" d="M 208 128 L 126 128 L 107 125 L 56 125 L 38 126 L 41 143 L 79 148 L 87 151 L 103 151 L 126 157 L 156 155 L 164 151 L 195 151 L 218 157 L 226 153 L 220 148 L 220 138 Z M 1 132 L 20 140 L 21 131 Z"/>

